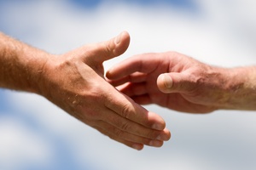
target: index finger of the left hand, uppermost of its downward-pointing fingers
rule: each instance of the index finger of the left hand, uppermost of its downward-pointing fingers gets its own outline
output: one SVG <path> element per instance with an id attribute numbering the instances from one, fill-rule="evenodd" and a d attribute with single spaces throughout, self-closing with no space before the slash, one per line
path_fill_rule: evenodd
<path id="1" fill-rule="evenodd" d="M 137 122 L 144 127 L 156 130 L 163 130 L 166 127 L 166 122 L 159 115 L 147 111 L 141 105 L 137 105 L 132 99 L 123 94 L 117 93 L 115 95 L 116 97 L 114 99 L 107 99 L 105 103 L 106 107 L 111 111 L 133 122 Z M 113 96 L 113 94 L 110 96 Z"/>

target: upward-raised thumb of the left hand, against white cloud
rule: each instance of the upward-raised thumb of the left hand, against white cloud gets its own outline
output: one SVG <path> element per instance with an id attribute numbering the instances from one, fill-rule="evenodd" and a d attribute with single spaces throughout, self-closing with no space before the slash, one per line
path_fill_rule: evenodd
<path id="1" fill-rule="evenodd" d="M 87 55 L 86 60 L 93 63 L 102 63 L 105 60 L 112 59 L 125 53 L 129 47 L 130 35 L 123 31 L 118 37 L 114 37 L 107 42 L 99 42 L 85 46 Z"/>

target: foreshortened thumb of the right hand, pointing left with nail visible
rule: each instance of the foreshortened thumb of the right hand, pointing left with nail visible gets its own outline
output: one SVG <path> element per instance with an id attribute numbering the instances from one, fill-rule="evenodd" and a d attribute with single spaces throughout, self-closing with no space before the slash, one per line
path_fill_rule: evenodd
<path id="1" fill-rule="evenodd" d="M 184 73 L 164 73 L 157 78 L 157 86 L 165 94 L 188 92 L 193 88 L 189 75 Z"/>

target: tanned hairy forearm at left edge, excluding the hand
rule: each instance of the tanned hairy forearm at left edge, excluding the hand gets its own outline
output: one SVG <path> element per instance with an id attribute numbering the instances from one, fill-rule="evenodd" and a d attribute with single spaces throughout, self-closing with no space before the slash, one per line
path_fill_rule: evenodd
<path id="1" fill-rule="evenodd" d="M 0 32 L 0 88 L 38 93 L 49 54 Z"/>

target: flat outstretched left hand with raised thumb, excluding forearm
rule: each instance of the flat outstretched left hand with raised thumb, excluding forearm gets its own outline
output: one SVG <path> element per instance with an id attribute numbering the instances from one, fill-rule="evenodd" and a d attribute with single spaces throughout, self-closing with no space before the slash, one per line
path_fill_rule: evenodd
<path id="1" fill-rule="evenodd" d="M 164 120 L 137 105 L 105 81 L 103 61 L 123 54 L 130 36 L 85 45 L 44 65 L 41 94 L 72 116 L 111 139 L 137 150 L 160 147 L 171 137 Z"/>

